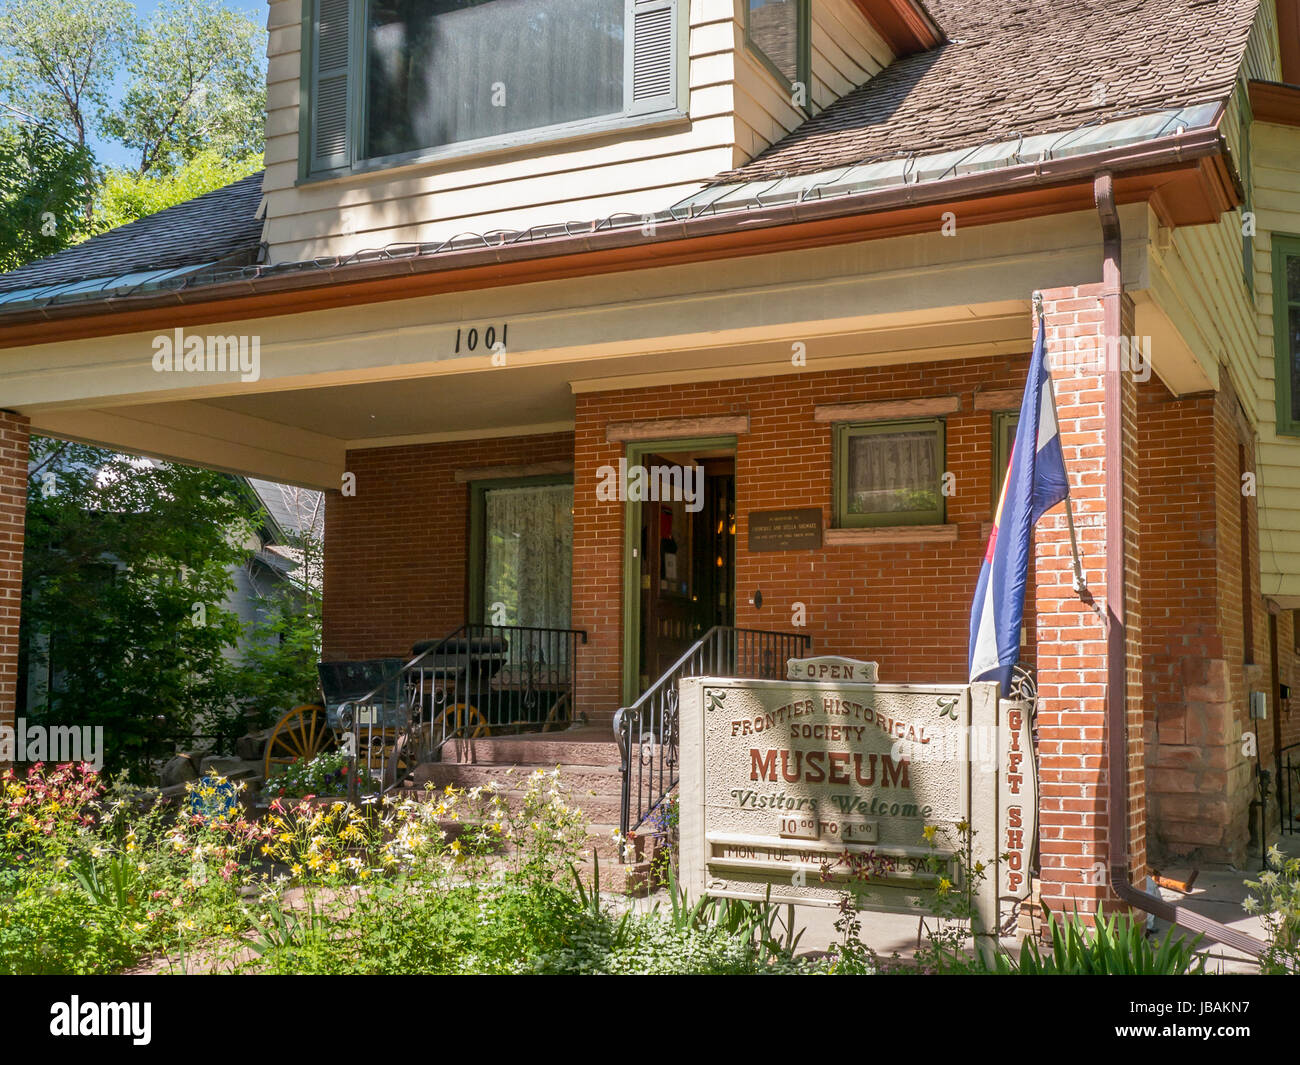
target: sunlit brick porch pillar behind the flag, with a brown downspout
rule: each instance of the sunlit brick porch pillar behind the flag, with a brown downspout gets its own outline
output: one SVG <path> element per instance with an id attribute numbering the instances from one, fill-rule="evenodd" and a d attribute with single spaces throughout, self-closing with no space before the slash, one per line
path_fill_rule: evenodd
<path id="1" fill-rule="evenodd" d="M 1101 286 L 1044 291 L 1048 352 L 1088 593 L 1105 614 L 1109 479 L 1105 468 Z M 1132 302 L 1123 299 L 1123 334 Z M 1121 375 L 1126 511 L 1127 809 L 1108 810 L 1106 625 L 1071 586 L 1070 533 L 1056 507 L 1036 533 L 1039 668 L 1039 854 L 1044 905 L 1058 914 L 1119 905 L 1110 889 L 1112 815 L 1128 822 L 1134 883 L 1145 879 L 1141 616 L 1138 560 L 1136 388 Z"/>

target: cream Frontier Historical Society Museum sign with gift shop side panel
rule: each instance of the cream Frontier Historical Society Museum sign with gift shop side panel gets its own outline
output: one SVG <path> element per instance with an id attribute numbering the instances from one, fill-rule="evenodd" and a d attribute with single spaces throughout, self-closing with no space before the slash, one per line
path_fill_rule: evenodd
<path id="1" fill-rule="evenodd" d="M 681 870 L 692 896 L 924 913 L 985 876 L 979 921 L 1028 893 L 1036 832 L 1024 703 L 996 684 L 681 681 Z M 874 677 L 874 670 L 870 671 Z M 858 672 L 861 675 L 861 671 Z M 928 830 L 928 831 L 927 831 Z M 1005 857 L 1004 857 L 1005 856 Z"/>

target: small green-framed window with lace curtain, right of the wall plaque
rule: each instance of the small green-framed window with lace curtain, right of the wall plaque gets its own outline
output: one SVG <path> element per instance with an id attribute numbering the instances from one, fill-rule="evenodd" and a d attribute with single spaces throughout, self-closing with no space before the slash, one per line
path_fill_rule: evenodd
<path id="1" fill-rule="evenodd" d="M 835 524 L 940 525 L 944 423 L 875 421 L 835 427 Z"/>

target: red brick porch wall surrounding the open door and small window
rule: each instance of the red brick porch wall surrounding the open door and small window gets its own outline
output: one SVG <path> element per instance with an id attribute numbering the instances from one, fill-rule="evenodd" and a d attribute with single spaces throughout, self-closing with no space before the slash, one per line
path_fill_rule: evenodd
<path id="1" fill-rule="evenodd" d="M 588 684 L 599 701 L 612 711 L 620 694 L 623 507 L 595 498 L 597 469 L 624 454 L 606 442 L 608 423 L 749 414 L 736 453 L 736 624 L 806 632 L 818 653 L 872 658 L 889 681 L 962 681 L 993 508 L 993 415 L 976 412 L 972 394 L 1023 388 L 1026 365 L 1015 356 L 578 395 L 575 623 L 592 632 Z M 957 525 L 956 544 L 746 550 L 750 511 L 820 507 L 831 525 L 831 427 L 814 421 L 816 404 L 936 395 L 962 401 L 961 412 L 946 416 L 946 466 L 956 476 L 946 520 Z M 762 609 L 753 606 L 758 590 Z M 796 602 L 806 607 L 803 629 L 792 628 Z M 1032 631 L 1032 618 L 1027 624 Z"/>

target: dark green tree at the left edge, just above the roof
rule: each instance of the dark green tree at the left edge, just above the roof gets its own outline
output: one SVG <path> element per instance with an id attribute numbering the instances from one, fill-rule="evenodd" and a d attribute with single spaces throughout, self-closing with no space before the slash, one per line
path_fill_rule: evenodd
<path id="1" fill-rule="evenodd" d="M 0 125 L 0 270 L 79 239 L 88 169 L 86 148 L 44 126 Z"/>

